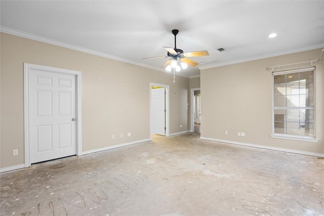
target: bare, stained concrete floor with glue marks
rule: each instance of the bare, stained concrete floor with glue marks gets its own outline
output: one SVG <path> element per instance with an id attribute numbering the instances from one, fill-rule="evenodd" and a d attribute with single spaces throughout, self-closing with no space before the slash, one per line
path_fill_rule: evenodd
<path id="1" fill-rule="evenodd" d="M 323 215 L 323 159 L 198 133 L 2 173 L 1 215 Z"/>

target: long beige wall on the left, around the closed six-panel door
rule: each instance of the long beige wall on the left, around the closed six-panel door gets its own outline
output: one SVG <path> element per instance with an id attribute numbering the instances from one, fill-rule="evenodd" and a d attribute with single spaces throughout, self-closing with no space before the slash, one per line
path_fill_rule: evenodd
<path id="1" fill-rule="evenodd" d="M 189 130 L 188 78 L 1 33 L 0 168 L 24 163 L 24 62 L 82 71 L 83 151 L 150 137 L 150 82 L 170 86 L 170 133 Z"/>

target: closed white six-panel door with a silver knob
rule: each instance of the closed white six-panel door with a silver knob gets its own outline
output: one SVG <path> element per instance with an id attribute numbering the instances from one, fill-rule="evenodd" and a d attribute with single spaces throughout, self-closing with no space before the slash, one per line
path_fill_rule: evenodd
<path id="1" fill-rule="evenodd" d="M 75 76 L 29 72 L 30 163 L 76 154 Z"/>

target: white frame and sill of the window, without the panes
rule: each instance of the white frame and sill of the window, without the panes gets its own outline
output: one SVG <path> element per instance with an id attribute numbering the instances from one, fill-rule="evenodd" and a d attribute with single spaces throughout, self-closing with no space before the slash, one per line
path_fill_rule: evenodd
<path id="1" fill-rule="evenodd" d="M 277 75 L 287 75 L 287 74 L 293 74 L 293 73 L 302 73 L 306 71 L 313 71 L 313 77 L 314 77 L 314 136 L 307 136 L 307 135 L 293 135 L 293 134 L 284 134 L 284 133 L 275 133 L 274 132 L 274 76 Z M 290 140 L 299 140 L 299 141 L 308 141 L 308 142 L 318 142 L 318 139 L 316 139 L 316 80 L 315 80 L 315 67 L 305 67 L 305 68 L 299 68 L 299 69 L 290 69 L 290 70 L 282 70 L 282 71 L 273 71 L 272 72 L 272 134 L 270 135 L 272 138 L 280 138 L 280 139 L 290 139 Z M 287 83 L 287 82 L 286 82 Z M 299 93 L 300 95 L 300 93 Z M 279 107 L 278 107 L 279 108 Z M 284 107 L 285 109 L 288 109 L 287 105 Z M 304 107 L 302 107 L 304 108 Z M 300 107 L 297 108 L 298 110 L 301 110 Z"/>

